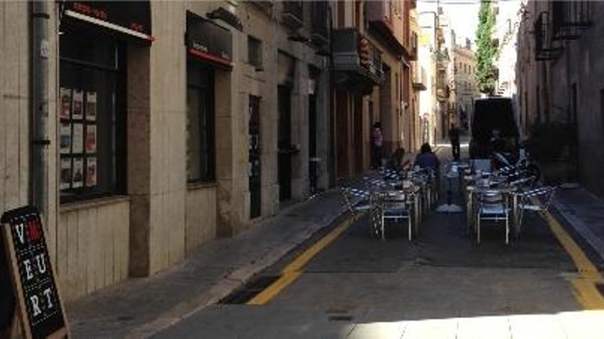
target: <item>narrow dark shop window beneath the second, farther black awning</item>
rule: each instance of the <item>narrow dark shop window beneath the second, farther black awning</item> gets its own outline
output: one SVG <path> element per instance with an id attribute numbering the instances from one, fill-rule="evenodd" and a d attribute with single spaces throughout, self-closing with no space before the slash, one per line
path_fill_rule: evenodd
<path id="1" fill-rule="evenodd" d="M 215 179 L 213 68 L 187 62 L 187 181 Z"/>

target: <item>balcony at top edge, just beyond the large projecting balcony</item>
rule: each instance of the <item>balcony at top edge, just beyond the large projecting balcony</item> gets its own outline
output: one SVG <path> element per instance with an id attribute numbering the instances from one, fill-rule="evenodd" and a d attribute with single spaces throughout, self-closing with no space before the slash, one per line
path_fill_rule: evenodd
<path id="1" fill-rule="evenodd" d="M 388 0 L 371 1 L 367 4 L 365 15 L 369 21 L 369 31 L 384 40 L 395 53 L 402 55 L 406 49 L 394 33 L 392 2 Z"/>

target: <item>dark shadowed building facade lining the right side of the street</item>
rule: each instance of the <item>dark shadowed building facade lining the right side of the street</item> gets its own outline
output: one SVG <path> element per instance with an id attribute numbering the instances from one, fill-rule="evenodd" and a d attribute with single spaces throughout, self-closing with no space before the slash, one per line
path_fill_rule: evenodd
<path id="1" fill-rule="evenodd" d="M 568 177 L 604 196 L 604 3 L 523 1 L 516 79 L 519 122 L 566 123 L 574 138 L 566 150 Z M 573 177 L 573 173 L 576 177 Z"/>

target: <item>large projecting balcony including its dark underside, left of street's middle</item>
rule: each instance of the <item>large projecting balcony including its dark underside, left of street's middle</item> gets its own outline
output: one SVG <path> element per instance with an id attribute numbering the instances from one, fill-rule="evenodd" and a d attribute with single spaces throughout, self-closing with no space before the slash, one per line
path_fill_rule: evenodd
<path id="1" fill-rule="evenodd" d="M 334 30 L 332 46 L 336 84 L 362 92 L 382 84 L 382 55 L 356 28 Z"/>

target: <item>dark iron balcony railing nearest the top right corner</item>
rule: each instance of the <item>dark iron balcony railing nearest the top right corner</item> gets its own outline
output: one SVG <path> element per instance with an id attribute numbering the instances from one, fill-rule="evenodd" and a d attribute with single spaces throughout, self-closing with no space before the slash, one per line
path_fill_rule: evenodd
<path id="1" fill-rule="evenodd" d="M 581 30 L 591 25 L 589 1 L 552 1 L 551 14 L 552 34 L 557 40 L 579 38 Z"/>

